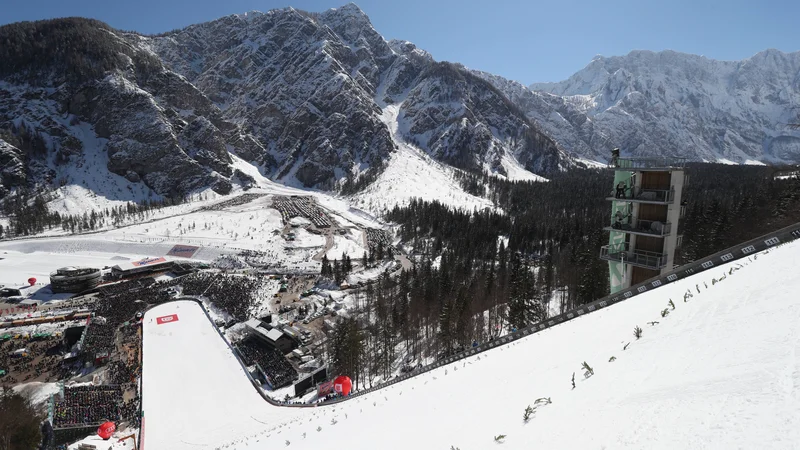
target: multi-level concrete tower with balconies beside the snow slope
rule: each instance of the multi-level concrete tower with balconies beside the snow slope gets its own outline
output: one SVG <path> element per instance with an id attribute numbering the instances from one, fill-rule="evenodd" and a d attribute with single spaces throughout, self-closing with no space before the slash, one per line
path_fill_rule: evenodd
<path id="1" fill-rule="evenodd" d="M 604 228 L 610 237 L 600 249 L 612 294 L 672 270 L 685 165 L 685 158 L 620 158 L 619 149 L 612 151 L 611 220 Z"/>

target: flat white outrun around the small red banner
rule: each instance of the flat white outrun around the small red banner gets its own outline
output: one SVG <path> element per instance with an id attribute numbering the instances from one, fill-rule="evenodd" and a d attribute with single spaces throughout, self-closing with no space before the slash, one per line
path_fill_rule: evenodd
<path id="1" fill-rule="evenodd" d="M 157 324 L 157 318 L 177 320 Z M 144 317 L 143 449 L 217 448 L 278 426 L 300 411 L 276 408 L 250 384 L 203 308 L 181 300 Z"/>

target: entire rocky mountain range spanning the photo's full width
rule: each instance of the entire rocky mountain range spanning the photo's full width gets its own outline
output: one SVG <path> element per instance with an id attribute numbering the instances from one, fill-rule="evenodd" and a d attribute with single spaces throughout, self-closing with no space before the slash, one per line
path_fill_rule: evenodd
<path id="1" fill-rule="evenodd" d="M 637 51 L 526 87 L 386 41 L 353 4 L 158 36 L 90 19 L 25 22 L 0 27 L 0 42 L 0 197 L 64 184 L 161 195 L 252 186 L 232 155 L 279 182 L 338 189 L 375 179 L 398 139 L 510 177 L 603 161 L 613 147 L 800 161 L 800 130 L 786 126 L 800 53 L 731 62 Z M 106 178 L 86 182 L 98 172 Z"/>

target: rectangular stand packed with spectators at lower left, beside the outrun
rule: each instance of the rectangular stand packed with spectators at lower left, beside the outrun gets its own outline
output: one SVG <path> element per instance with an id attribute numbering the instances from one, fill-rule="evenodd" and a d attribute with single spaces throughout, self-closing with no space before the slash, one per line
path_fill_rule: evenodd
<path id="1" fill-rule="evenodd" d="M 63 428 L 100 424 L 121 418 L 122 390 L 119 386 L 77 386 L 64 388 L 55 404 L 53 426 Z"/>

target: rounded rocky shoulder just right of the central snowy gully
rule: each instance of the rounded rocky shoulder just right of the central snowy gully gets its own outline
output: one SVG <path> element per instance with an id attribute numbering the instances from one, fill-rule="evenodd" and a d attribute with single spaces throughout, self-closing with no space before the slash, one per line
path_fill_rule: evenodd
<path id="1" fill-rule="evenodd" d="M 429 65 L 401 108 L 400 128 L 441 161 L 504 172 L 512 156 L 532 172 L 559 169 L 563 155 L 490 83 L 450 63 Z"/>

